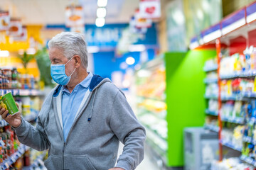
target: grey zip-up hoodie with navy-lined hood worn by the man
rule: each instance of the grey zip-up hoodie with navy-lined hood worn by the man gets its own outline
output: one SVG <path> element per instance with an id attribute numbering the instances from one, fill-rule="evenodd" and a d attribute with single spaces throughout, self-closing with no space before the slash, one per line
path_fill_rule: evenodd
<path id="1" fill-rule="evenodd" d="M 92 77 L 87 100 L 76 115 L 66 142 L 61 123 L 61 86 L 46 97 L 34 128 L 26 120 L 14 128 L 18 140 L 39 151 L 48 150 L 47 169 L 135 169 L 144 157 L 145 130 L 137 121 L 122 91 L 109 79 Z M 85 97 L 86 98 L 86 97 Z"/>

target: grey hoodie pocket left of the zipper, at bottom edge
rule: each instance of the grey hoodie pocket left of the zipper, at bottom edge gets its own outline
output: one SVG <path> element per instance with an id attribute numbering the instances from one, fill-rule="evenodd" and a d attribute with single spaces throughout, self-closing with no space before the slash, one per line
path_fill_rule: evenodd
<path id="1" fill-rule="evenodd" d="M 48 170 L 63 169 L 63 160 L 61 156 L 50 155 L 46 159 L 45 166 Z"/>

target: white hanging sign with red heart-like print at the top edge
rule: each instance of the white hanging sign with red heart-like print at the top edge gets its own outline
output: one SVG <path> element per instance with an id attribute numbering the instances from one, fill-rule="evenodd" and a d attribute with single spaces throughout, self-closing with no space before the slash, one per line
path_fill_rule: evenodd
<path id="1" fill-rule="evenodd" d="M 139 12 L 142 18 L 160 18 L 160 0 L 141 0 L 139 2 Z"/>

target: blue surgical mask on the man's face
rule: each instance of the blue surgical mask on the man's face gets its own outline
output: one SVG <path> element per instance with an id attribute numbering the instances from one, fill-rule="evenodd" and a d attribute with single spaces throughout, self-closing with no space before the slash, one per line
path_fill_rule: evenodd
<path id="1" fill-rule="evenodd" d="M 73 57 L 70 59 L 72 60 Z M 68 62 L 70 62 L 70 60 Z M 68 64 L 68 62 L 66 64 Z M 68 77 L 67 74 L 65 74 L 65 65 L 66 64 L 51 64 L 50 65 L 50 75 L 53 78 L 53 80 L 60 84 L 60 85 L 67 85 L 68 82 L 70 81 L 70 78 L 72 76 L 72 74 L 75 72 L 72 72 L 72 74 L 70 74 L 70 76 Z"/>

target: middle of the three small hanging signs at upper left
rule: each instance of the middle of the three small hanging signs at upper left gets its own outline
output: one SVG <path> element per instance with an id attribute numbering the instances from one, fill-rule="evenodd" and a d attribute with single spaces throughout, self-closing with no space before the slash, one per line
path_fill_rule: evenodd
<path id="1" fill-rule="evenodd" d="M 20 36 L 22 34 L 22 23 L 21 19 L 11 18 L 9 30 L 7 31 L 7 35 L 10 36 Z"/>

